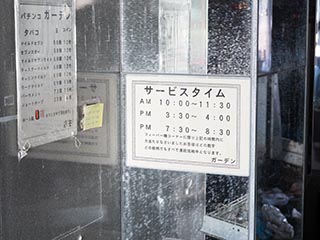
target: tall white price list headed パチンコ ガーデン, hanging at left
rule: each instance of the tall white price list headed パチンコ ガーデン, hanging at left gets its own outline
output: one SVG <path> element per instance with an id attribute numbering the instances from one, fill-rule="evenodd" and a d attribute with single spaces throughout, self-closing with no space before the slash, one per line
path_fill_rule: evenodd
<path id="1" fill-rule="evenodd" d="M 20 149 L 77 133 L 74 4 L 51 2 L 16 1 Z"/>

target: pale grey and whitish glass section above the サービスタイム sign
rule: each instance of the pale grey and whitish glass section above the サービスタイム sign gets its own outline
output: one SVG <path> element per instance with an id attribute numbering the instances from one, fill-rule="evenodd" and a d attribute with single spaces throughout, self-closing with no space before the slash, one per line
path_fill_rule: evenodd
<path id="1" fill-rule="evenodd" d="M 206 11 L 203 0 L 124 1 L 123 71 L 206 73 Z"/>

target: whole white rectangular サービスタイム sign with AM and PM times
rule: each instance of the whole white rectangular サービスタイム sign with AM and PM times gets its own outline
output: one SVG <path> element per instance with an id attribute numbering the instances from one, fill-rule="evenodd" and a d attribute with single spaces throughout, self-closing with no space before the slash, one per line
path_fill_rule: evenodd
<path id="1" fill-rule="evenodd" d="M 249 175 L 250 78 L 126 75 L 127 165 Z"/>

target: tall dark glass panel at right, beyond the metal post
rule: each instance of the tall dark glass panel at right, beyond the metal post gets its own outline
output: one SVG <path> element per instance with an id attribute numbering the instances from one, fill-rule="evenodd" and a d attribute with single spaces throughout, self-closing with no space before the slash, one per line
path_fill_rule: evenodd
<path id="1" fill-rule="evenodd" d="M 273 0 L 270 11 L 271 69 L 258 78 L 256 237 L 303 239 L 307 1 Z"/>

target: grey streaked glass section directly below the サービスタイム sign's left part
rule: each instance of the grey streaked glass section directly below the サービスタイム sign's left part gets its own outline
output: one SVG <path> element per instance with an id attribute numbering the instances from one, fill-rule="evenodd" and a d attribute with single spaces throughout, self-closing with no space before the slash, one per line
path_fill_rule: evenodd
<path id="1" fill-rule="evenodd" d="M 203 175 L 126 168 L 124 176 L 124 239 L 203 239 Z"/>

